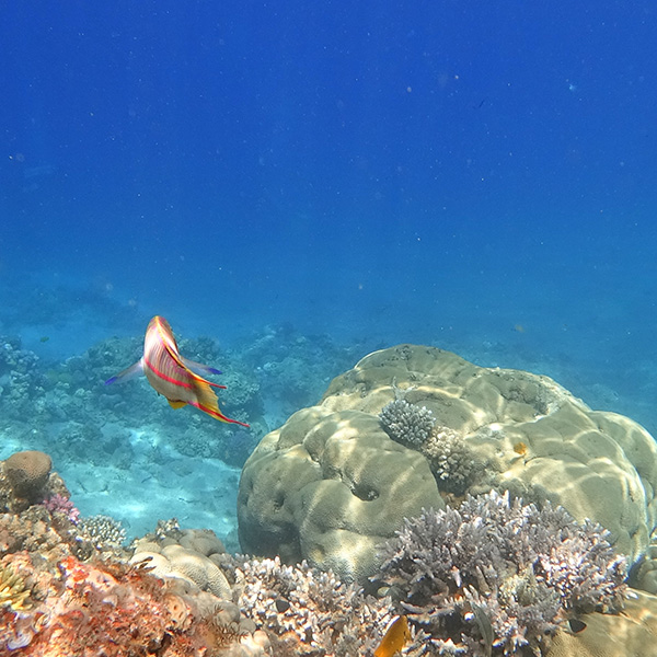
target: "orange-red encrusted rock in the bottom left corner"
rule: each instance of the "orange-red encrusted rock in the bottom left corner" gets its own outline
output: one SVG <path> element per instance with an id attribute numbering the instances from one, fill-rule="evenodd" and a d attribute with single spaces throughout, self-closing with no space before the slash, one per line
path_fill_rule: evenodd
<path id="1" fill-rule="evenodd" d="M 25 553 L 21 561 L 23 570 L 27 563 L 35 569 Z M 0 652 L 21 647 L 22 657 L 200 657 L 207 648 L 193 603 L 162 580 L 141 568 L 74 556 L 60 562 L 59 575 L 50 574 L 38 606 L 3 610 L 0 627 Z"/>

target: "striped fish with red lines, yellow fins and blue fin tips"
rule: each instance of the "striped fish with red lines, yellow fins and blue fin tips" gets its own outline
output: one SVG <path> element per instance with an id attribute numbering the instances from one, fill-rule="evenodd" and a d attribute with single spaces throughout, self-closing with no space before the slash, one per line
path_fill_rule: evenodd
<path id="1" fill-rule="evenodd" d="M 181 408 L 189 404 L 221 422 L 247 427 L 247 424 L 226 417 L 219 411 L 217 395 L 212 388 L 226 389 L 226 385 L 211 383 L 198 372 L 221 373 L 214 367 L 194 362 L 194 360 L 181 356 L 169 322 L 164 318 L 155 315 L 146 330 L 143 356 L 116 377 L 107 379 L 105 385 L 146 374 L 148 382 L 157 392 L 166 397 L 173 408 Z"/>

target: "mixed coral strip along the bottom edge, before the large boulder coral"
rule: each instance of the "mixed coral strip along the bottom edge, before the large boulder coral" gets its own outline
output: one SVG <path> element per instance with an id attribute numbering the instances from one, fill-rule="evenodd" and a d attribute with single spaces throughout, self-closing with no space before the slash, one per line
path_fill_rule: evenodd
<path id="1" fill-rule="evenodd" d="M 644 647 L 638 619 L 657 618 L 657 602 L 645 596 L 632 608 L 634 625 L 620 616 L 604 625 L 598 611 L 585 613 L 616 608 L 622 557 L 591 523 L 578 526 L 550 505 L 511 503 L 508 494 L 407 520 L 377 583 L 393 602 L 306 563 L 231 556 L 214 532 L 181 529 L 175 519 L 122 548 L 111 518 L 73 522 L 55 472 L 44 499 L 20 511 L 12 510 L 15 493 L 5 480 L 0 493 L 2 654 L 390 657 L 404 647 L 420 657 L 466 647 L 473 655 L 518 648 L 520 657 L 528 655 L 523 647 L 541 647 L 545 657 L 579 657 L 595 642 L 564 637 L 562 616 L 622 626 Z M 85 522 L 102 540 L 88 535 Z M 404 615 L 391 624 L 399 611 Z M 391 642 L 387 627 L 404 632 Z M 545 631 L 556 635 L 561 653 L 552 655 L 546 635 L 537 638 Z"/>

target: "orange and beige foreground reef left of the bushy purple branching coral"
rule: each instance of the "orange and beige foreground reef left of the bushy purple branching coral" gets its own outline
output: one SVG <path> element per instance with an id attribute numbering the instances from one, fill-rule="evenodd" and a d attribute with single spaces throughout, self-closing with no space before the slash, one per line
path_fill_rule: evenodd
<path id="1" fill-rule="evenodd" d="M 390 616 L 388 601 L 331 574 L 232 557 L 214 532 L 175 519 L 128 558 L 116 521 L 76 525 L 71 508 L 57 493 L 0 515 L 2 654 L 371 655 Z"/>

